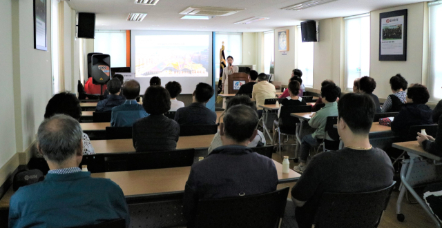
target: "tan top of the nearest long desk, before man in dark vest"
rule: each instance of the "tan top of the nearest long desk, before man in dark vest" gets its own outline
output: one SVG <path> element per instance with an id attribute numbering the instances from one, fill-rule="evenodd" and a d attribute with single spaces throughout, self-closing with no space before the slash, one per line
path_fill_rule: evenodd
<path id="1" fill-rule="evenodd" d="M 300 174 L 290 169 L 289 174 L 282 174 L 282 165 L 275 160 L 276 170 L 280 183 L 295 182 Z M 146 196 L 164 193 L 183 192 L 191 167 L 177 167 L 169 169 L 147 169 L 124 172 L 108 172 L 91 174 L 96 178 L 109 178 L 122 188 L 124 196 Z M 9 200 L 14 194 L 12 186 L 0 200 L 0 209 L 9 208 Z"/>

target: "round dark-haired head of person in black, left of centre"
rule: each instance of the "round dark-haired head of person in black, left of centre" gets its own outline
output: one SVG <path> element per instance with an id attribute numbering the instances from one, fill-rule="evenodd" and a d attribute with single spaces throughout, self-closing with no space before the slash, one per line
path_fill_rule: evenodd
<path id="1" fill-rule="evenodd" d="M 171 110 L 171 95 L 164 87 L 148 87 L 143 98 L 143 107 L 148 114 L 161 115 Z"/>

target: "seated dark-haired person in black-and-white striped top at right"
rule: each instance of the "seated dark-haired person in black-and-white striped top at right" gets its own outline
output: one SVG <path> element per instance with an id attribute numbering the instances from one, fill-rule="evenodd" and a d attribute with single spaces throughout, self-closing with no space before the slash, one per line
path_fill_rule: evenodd
<path id="1" fill-rule="evenodd" d="M 402 105 L 407 103 L 407 92 L 405 92 L 408 87 L 407 80 L 401 74 L 396 74 L 390 79 L 390 87 L 393 94 L 385 100 L 384 105 L 382 105 L 382 112 L 399 112 Z"/>

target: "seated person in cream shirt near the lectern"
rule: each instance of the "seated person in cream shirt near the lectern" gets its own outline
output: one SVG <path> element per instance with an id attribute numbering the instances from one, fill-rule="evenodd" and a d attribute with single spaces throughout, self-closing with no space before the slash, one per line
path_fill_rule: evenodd
<path id="1" fill-rule="evenodd" d="M 258 116 L 262 116 L 262 107 L 264 105 L 265 99 L 275 99 L 276 89 L 275 85 L 267 81 L 267 74 L 261 73 L 258 75 L 258 83 L 253 85 L 253 90 L 251 92 L 251 100 L 256 101 L 256 107 L 258 108 Z"/>

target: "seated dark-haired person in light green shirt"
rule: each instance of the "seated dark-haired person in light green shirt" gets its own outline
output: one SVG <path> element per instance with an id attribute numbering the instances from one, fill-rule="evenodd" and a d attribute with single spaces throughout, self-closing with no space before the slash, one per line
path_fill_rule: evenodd
<path id="1" fill-rule="evenodd" d="M 310 155 L 311 147 L 318 147 L 324 137 L 326 140 L 333 141 L 333 139 L 325 133 L 325 125 L 327 124 L 327 117 L 338 116 L 338 103 L 336 99 L 338 99 L 340 94 L 340 88 L 334 83 L 330 83 L 329 85 L 321 87 L 320 94 L 323 97 L 325 106 L 314 113 L 309 121 L 310 127 L 316 128 L 316 131 L 302 138 L 300 164 L 294 167 L 294 170 L 298 173 L 304 172 L 305 167 L 307 167 L 307 158 Z"/>

